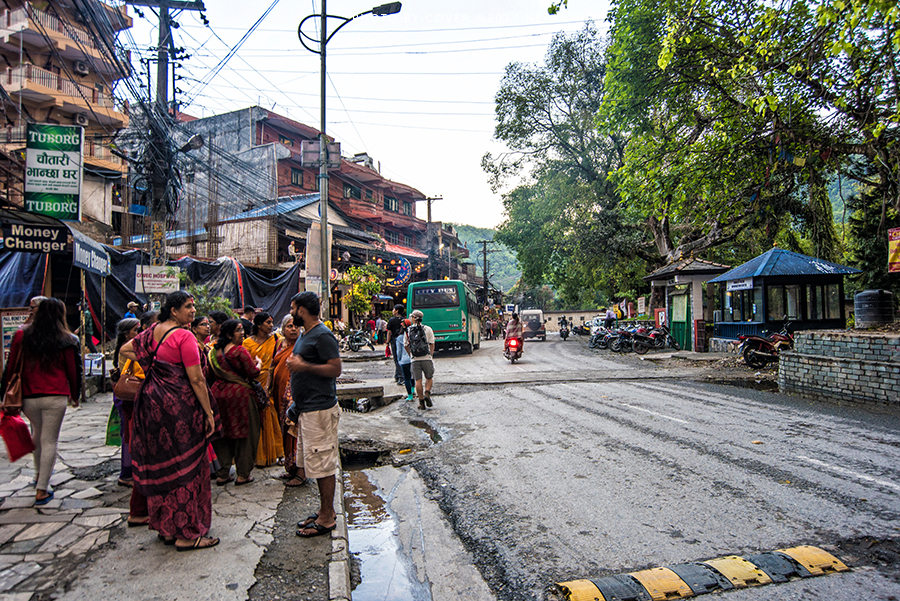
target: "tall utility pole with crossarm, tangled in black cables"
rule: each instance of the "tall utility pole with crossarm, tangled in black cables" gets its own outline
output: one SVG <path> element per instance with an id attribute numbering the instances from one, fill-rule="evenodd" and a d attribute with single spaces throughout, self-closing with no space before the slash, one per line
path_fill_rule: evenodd
<path id="1" fill-rule="evenodd" d="M 175 44 L 172 41 L 169 9 L 205 11 L 201 0 L 126 0 L 132 6 L 147 6 L 159 9 L 159 42 L 156 48 L 156 102 L 150 117 L 152 129 L 148 163 L 152 189 L 150 209 L 150 264 L 166 264 L 166 222 L 169 210 L 169 173 L 173 160 L 169 145 L 167 119 L 169 114 L 169 52 Z M 149 65 L 148 65 L 149 67 Z M 149 68 L 147 72 L 149 74 Z"/>

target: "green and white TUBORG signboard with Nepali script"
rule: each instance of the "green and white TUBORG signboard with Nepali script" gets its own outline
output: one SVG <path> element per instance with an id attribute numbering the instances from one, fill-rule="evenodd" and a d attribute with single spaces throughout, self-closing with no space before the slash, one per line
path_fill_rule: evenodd
<path id="1" fill-rule="evenodd" d="M 80 221 L 84 128 L 29 123 L 25 138 L 25 210 Z"/>

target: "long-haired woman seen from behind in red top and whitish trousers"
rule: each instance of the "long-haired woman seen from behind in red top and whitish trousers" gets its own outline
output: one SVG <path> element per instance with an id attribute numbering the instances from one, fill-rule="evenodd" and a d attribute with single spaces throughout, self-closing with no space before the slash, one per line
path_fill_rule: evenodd
<path id="1" fill-rule="evenodd" d="M 53 499 L 50 476 L 56 463 L 56 447 L 67 404 L 77 407 L 81 393 L 81 349 L 78 339 L 66 326 L 66 306 L 55 298 L 37 306 L 34 320 L 15 333 L 7 366 L 21 358 L 21 405 L 8 404 L 6 387 L 12 376 L 3 374 L 0 394 L 3 412 L 18 415 L 21 410 L 31 422 L 34 440 L 35 505 Z"/>

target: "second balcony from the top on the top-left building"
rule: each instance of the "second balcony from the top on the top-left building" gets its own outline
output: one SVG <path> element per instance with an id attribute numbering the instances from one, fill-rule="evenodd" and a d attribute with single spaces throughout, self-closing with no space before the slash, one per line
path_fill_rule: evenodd
<path id="1" fill-rule="evenodd" d="M 31 64 L 7 68 L 4 88 L 13 101 L 21 99 L 23 104 L 53 103 L 73 116 L 85 114 L 102 125 L 121 128 L 128 124 L 125 106 L 109 94 Z"/>

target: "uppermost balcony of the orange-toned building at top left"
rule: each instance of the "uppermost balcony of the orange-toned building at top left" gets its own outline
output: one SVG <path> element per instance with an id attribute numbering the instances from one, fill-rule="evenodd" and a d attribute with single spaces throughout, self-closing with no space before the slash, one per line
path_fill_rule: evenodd
<path id="1" fill-rule="evenodd" d="M 111 7 L 107 10 L 115 11 Z M 38 48 L 53 47 L 61 57 L 83 61 L 89 69 L 100 71 L 107 79 L 110 76 L 114 79 L 124 77 L 126 74 L 122 73 L 122 68 L 131 68 L 131 55 L 125 49 L 116 47 L 118 63 L 111 61 L 106 48 L 98 48 L 94 36 L 86 30 L 32 4 L 0 11 L 0 48 L 16 53 L 21 42 Z M 110 46 L 115 45 L 115 40 L 109 42 Z"/>

